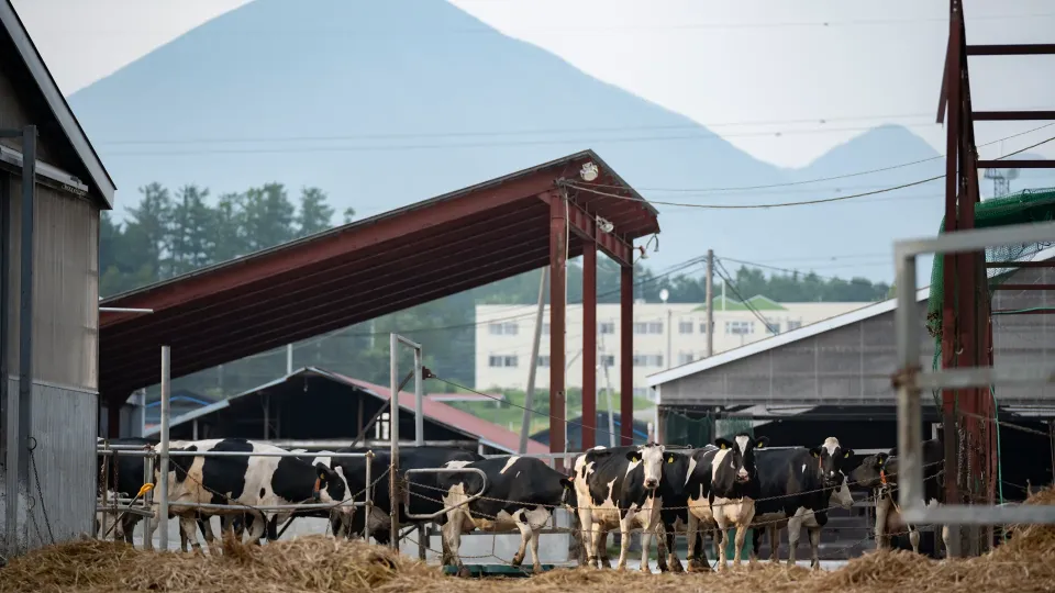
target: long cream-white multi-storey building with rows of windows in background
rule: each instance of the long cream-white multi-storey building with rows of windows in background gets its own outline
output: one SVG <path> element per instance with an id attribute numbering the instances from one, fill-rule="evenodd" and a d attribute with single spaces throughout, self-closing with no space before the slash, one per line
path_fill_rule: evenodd
<path id="1" fill-rule="evenodd" d="M 777 303 L 749 299 L 770 324 L 767 328 L 743 303 L 714 301 L 714 353 L 730 350 L 817 323 L 871 303 Z M 476 306 L 476 388 L 525 389 L 535 329 L 535 305 Z M 673 329 L 673 332 L 670 331 Z M 634 304 L 634 393 L 651 396 L 646 377 L 707 356 L 707 312 L 699 303 Z M 535 387 L 549 384 L 549 310 L 543 314 Z M 598 391 L 610 380 L 619 390 L 619 304 L 597 305 Z M 567 309 L 568 388 L 582 387 L 582 305 Z M 607 367 L 607 368 L 606 368 Z M 606 378 L 606 370 L 608 378 Z"/>

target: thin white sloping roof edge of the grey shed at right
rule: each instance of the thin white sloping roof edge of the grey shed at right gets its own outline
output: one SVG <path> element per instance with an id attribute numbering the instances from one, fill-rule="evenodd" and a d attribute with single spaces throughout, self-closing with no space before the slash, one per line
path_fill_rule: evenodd
<path id="1" fill-rule="evenodd" d="M 1025 256 L 1029 259 L 1045 260 L 1055 258 L 1055 247 L 1048 247 L 1041 249 L 1035 253 L 1030 253 Z M 930 298 L 931 288 L 924 287 L 917 291 L 915 299 L 917 301 L 925 301 Z M 648 387 L 655 388 L 662 385 L 663 383 L 668 383 L 670 381 L 677 381 L 678 379 L 684 379 L 690 374 L 696 374 L 698 372 L 703 372 L 706 370 L 733 362 L 735 360 L 741 360 L 747 358 L 748 356 L 754 356 L 762 354 L 774 348 L 778 348 L 786 344 L 792 344 L 795 342 L 811 338 L 819 334 L 825 332 L 831 332 L 832 329 L 837 329 L 844 327 L 852 323 L 857 323 L 864 320 L 881 315 L 884 313 L 889 313 L 897 309 L 898 301 L 897 299 L 888 299 L 886 301 L 880 301 L 875 304 L 865 305 L 860 309 L 851 311 L 848 313 L 843 313 L 842 315 L 835 315 L 834 317 L 829 317 L 826 320 L 811 323 L 810 325 L 803 325 L 798 329 L 792 329 L 791 332 L 785 332 L 773 337 L 765 339 L 759 339 L 758 342 L 753 342 L 751 344 L 741 346 L 738 348 L 732 348 L 725 350 L 724 353 L 714 355 L 710 358 L 702 358 L 700 360 L 695 360 L 687 365 L 681 365 L 680 367 L 674 367 L 665 371 L 657 372 L 655 374 L 649 374 L 647 377 Z"/>

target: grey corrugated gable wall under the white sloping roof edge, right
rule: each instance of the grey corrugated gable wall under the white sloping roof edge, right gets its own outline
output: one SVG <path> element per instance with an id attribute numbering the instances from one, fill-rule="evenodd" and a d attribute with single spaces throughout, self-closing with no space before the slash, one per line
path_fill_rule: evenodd
<path id="1" fill-rule="evenodd" d="M 1055 283 L 1051 268 L 1023 268 L 1006 283 Z M 996 291 L 993 311 L 1055 306 L 1055 291 Z M 931 368 L 934 338 L 919 305 L 921 350 Z M 1055 365 L 1055 315 L 995 315 L 996 365 Z M 881 404 L 895 401 L 893 312 L 664 383 L 664 405 Z M 1055 385 L 1000 388 L 1001 405 L 1051 405 Z M 924 404 L 930 400 L 924 398 Z"/>

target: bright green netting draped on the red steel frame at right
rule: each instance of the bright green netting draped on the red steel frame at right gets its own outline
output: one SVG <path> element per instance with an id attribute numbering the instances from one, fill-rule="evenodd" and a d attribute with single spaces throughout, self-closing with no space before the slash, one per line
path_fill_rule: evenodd
<path id="1" fill-rule="evenodd" d="M 995 198 L 975 204 L 975 227 L 987 228 L 1014 224 L 1039 223 L 1055 220 L 1055 188 L 1042 190 L 1023 190 L 1004 198 Z M 945 232 L 945 220 L 939 227 L 939 233 Z M 986 261 L 1011 261 L 1025 258 L 1051 244 L 1011 245 L 1006 247 L 989 247 L 986 249 Z M 935 354 L 934 368 L 941 361 L 942 349 L 942 306 L 945 302 L 942 275 L 944 273 L 944 258 L 935 254 L 931 268 L 931 292 L 926 307 L 926 327 L 934 337 Z M 1010 277 L 1013 268 L 988 268 L 987 277 L 990 290 L 992 287 Z"/>

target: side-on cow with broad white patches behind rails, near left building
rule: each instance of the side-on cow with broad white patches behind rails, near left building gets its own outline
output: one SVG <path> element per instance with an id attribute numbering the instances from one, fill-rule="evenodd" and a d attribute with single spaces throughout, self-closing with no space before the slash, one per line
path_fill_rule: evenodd
<path id="1" fill-rule="evenodd" d="M 285 452 L 285 449 L 242 438 L 181 443 L 173 450 Z M 323 463 L 311 463 L 296 457 L 173 457 L 169 471 L 169 507 L 179 517 L 181 528 L 193 534 L 193 508 L 179 503 L 242 505 L 245 510 L 212 510 L 215 515 L 244 515 L 254 521 L 249 541 L 258 542 L 273 512 L 254 511 L 259 506 L 321 502 L 336 504 L 344 500 L 346 486 L 334 470 Z M 159 475 L 158 471 L 155 471 Z M 156 500 L 156 497 L 155 497 Z M 155 503 L 156 505 L 156 503 Z M 155 516 L 157 510 L 155 508 Z M 156 525 L 156 523 L 154 524 Z M 201 545 L 190 535 L 193 549 Z"/>

